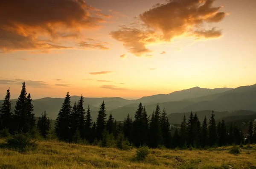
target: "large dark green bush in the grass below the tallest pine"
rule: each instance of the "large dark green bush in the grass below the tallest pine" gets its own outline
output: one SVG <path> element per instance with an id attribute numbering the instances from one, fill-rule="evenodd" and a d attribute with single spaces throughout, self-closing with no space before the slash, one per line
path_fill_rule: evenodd
<path id="1" fill-rule="evenodd" d="M 26 152 L 37 148 L 38 144 L 31 140 L 31 136 L 26 133 L 15 133 L 12 138 L 6 139 L 6 146 L 18 152 Z"/>

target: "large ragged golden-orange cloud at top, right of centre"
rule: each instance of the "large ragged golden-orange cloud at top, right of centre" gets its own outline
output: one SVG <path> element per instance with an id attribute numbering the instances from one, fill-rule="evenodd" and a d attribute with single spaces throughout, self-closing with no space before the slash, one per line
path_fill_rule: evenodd
<path id="1" fill-rule="evenodd" d="M 227 15 L 219 12 L 222 6 L 213 7 L 215 0 L 166 0 L 136 17 L 131 27 L 121 26 L 110 33 L 123 43 L 128 52 L 145 56 L 151 50 L 146 46 L 169 43 L 175 37 L 213 39 L 221 37 L 221 30 L 205 29 L 207 23 L 218 23 Z"/>

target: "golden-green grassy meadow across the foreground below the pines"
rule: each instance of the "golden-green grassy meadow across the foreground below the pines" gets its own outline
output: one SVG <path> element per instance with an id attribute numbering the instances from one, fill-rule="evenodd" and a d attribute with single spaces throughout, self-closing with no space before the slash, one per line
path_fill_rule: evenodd
<path id="1" fill-rule="evenodd" d="M 0 140 L 0 143 L 3 142 Z M 35 151 L 23 154 L 0 149 L 0 169 L 256 169 L 256 145 L 250 148 L 244 146 L 239 155 L 230 154 L 230 148 L 150 149 L 148 157 L 138 162 L 134 160 L 136 149 L 122 151 L 58 141 L 38 141 Z"/>

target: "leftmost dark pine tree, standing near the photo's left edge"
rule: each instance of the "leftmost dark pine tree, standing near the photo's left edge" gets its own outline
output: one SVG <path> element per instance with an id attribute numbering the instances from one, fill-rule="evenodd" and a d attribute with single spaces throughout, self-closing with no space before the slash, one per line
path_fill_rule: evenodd
<path id="1" fill-rule="evenodd" d="M 12 104 L 10 97 L 10 88 L 8 88 L 2 107 L 0 108 L 0 130 L 6 128 L 10 131 L 12 127 Z"/>

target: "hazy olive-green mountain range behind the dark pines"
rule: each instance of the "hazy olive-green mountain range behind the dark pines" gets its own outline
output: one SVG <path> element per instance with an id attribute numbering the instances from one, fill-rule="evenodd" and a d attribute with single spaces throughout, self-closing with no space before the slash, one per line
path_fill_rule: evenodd
<path id="1" fill-rule="evenodd" d="M 17 99 L 12 100 L 12 107 L 14 109 Z M 79 100 L 79 96 L 71 96 L 72 104 Z M 230 112 L 234 110 L 251 110 L 256 111 L 256 85 L 242 86 L 233 88 L 216 88 L 204 89 L 200 87 L 193 87 L 186 90 L 175 91 L 169 94 L 158 94 L 153 96 L 142 97 L 137 100 L 127 100 L 119 97 L 115 98 L 84 98 L 84 107 L 90 104 L 92 110 L 92 118 L 96 120 L 99 105 L 105 101 L 107 113 L 112 113 L 117 121 L 123 121 L 129 113 L 134 117 L 140 102 L 145 105 L 148 115 L 154 111 L 157 102 L 161 109 L 165 107 L 172 123 L 180 123 L 180 116 L 188 112 L 203 112 L 210 113 L 210 110 L 215 110 L 223 114 L 224 111 Z M 42 98 L 32 101 L 34 105 L 35 116 L 40 116 L 44 110 L 50 118 L 55 119 L 61 108 L 64 98 Z M 0 101 L 1 103 L 3 101 Z M 203 110 L 206 110 L 205 112 Z M 171 114 L 173 113 L 173 114 Z M 176 113 L 176 114 L 175 114 Z M 178 116 L 174 116 L 177 115 Z M 224 113 L 225 114 L 225 113 Z M 253 113 L 252 113 L 253 114 Z M 219 116 L 221 118 L 226 117 Z M 239 114 L 240 115 L 240 114 Z M 251 114 L 249 114 L 251 115 Z M 217 116 L 217 115 L 216 115 Z M 173 120 L 175 119 L 175 120 Z"/>

